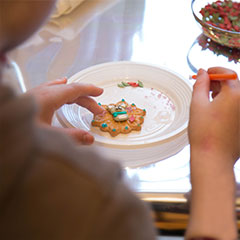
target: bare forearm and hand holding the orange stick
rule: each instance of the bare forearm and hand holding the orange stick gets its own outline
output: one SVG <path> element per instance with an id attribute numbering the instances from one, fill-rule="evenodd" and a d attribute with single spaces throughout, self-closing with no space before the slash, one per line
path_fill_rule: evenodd
<path id="1" fill-rule="evenodd" d="M 208 73 L 232 71 L 217 67 Z M 233 166 L 239 157 L 239 104 L 238 79 L 213 84 L 207 72 L 198 72 L 188 128 L 192 197 L 186 239 L 237 239 Z"/>

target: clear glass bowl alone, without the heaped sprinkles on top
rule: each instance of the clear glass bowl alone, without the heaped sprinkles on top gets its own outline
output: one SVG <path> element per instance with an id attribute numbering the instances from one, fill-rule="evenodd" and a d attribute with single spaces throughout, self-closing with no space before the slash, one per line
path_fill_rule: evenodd
<path id="1" fill-rule="evenodd" d="M 203 17 L 200 13 L 201 9 L 207 4 L 212 4 L 214 2 L 216 2 L 216 0 L 192 0 L 192 13 L 202 28 L 203 34 L 223 46 L 240 48 L 240 32 L 228 31 L 220 27 L 215 27 L 202 20 Z M 240 0 L 234 0 L 232 2 L 239 3 Z"/>

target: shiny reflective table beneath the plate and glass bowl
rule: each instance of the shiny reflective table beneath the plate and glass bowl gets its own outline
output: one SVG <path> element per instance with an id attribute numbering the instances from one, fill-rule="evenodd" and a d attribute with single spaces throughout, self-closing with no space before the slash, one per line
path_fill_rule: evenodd
<path id="1" fill-rule="evenodd" d="M 86 0 L 72 13 L 51 19 L 10 58 L 21 69 L 27 89 L 95 64 L 122 60 L 163 66 L 185 78 L 200 67 L 224 66 L 240 73 L 240 51 L 229 53 L 201 35 L 191 0 Z M 240 163 L 235 170 L 240 182 Z M 191 189 L 188 145 L 168 159 L 126 168 L 125 173 L 134 191 L 152 203 L 158 227 L 186 227 L 185 194 Z"/>

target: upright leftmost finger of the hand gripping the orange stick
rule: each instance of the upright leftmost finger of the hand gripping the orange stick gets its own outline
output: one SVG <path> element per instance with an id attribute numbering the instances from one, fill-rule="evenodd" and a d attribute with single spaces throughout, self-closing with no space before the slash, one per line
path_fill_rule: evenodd
<path id="1" fill-rule="evenodd" d="M 197 74 L 197 81 L 193 87 L 192 101 L 206 102 L 209 101 L 210 79 L 207 72 L 200 69 Z"/>

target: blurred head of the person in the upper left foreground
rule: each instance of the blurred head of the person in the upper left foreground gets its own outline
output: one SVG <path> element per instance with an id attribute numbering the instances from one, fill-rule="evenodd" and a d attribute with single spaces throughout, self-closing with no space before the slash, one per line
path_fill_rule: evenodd
<path id="1" fill-rule="evenodd" d="M 22 43 L 47 19 L 56 0 L 0 0 L 0 55 Z"/>

